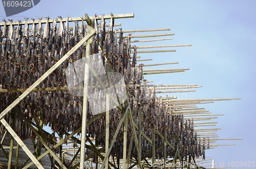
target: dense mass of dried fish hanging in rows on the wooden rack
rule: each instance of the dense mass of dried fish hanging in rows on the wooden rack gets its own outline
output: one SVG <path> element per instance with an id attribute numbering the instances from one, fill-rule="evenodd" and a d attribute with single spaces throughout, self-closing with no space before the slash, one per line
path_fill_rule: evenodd
<path id="1" fill-rule="evenodd" d="M 32 28 L 29 28 L 26 18 L 25 25 L 18 25 L 17 28 L 6 25 L 0 30 L 0 89 L 19 89 L 28 88 L 39 77 L 52 67 L 60 58 L 62 58 L 72 47 L 86 35 L 86 25 L 83 20 L 78 27 L 78 21 L 74 21 L 73 28 L 69 27 L 69 18 L 65 26 L 60 18 L 59 27 L 57 29 L 56 19 L 53 22 L 48 22 L 45 28 L 42 28 L 39 22 L 36 25 L 32 23 Z M 114 31 L 114 18 L 110 19 L 110 27 L 106 31 L 105 20 L 102 15 L 98 26 L 97 19 L 94 19 L 94 35 L 93 43 L 91 44 L 91 54 L 99 53 L 101 50 L 101 62 L 105 70 L 111 67 L 112 71 L 120 73 L 125 81 L 125 84 L 141 84 L 142 87 L 128 87 L 129 104 L 135 123 L 139 122 L 139 110 L 142 113 L 142 132 L 152 139 L 152 130 L 160 131 L 164 135 L 164 129 L 167 128 L 167 140 L 175 145 L 172 139 L 175 135 L 179 137 L 177 144 L 180 152 L 182 145 L 185 145 L 185 155 L 202 156 L 205 150 L 205 141 L 197 140 L 196 132 L 193 131 L 193 120 L 186 120 L 179 115 L 171 115 L 167 113 L 165 108 L 166 103 L 157 98 L 155 88 L 150 90 L 148 87 L 143 87 L 145 79 L 143 79 L 143 65 L 137 67 L 136 46 L 133 47 L 133 56 L 131 56 L 131 34 L 127 38 L 123 37 L 120 29 L 119 39 L 117 30 Z M 61 66 L 53 71 L 38 87 L 67 87 L 67 79 L 65 69 L 73 62 L 82 58 L 86 53 L 86 44 L 80 46 L 72 56 L 69 57 Z M 100 58 L 92 58 L 100 59 Z M 76 84 L 73 84 L 76 86 Z M 99 85 L 94 80 L 90 85 Z M 13 98 L 18 97 L 21 92 L 0 92 L 0 112 L 2 112 Z M 105 100 L 102 95 L 94 95 L 98 101 Z M 82 96 L 72 95 L 68 90 L 57 91 L 33 91 L 22 102 L 17 105 L 17 108 L 22 111 L 29 120 L 35 118 L 41 119 L 41 114 L 44 114 L 44 124 L 49 125 L 51 129 L 57 133 L 73 132 L 81 126 L 82 115 Z M 96 103 L 96 102 L 93 102 Z M 99 102 L 97 102 L 99 103 Z M 88 103 L 88 120 L 94 117 L 93 105 Z M 124 105 L 123 105 L 124 109 Z M 11 125 L 11 114 L 15 113 L 11 110 L 5 116 L 5 119 Z M 17 115 L 17 118 L 21 119 Z M 110 140 L 114 137 L 114 133 L 122 118 L 122 112 L 118 108 L 110 110 Z M 28 127 L 23 124 L 22 120 L 17 121 L 21 125 L 16 125 L 18 135 L 26 139 L 31 134 Z M 105 123 L 104 115 L 94 120 L 87 126 L 87 134 L 90 137 L 95 137 L 99 146 L 105 145 Z M 26 126 L 26 127 L 25 127 Z M 1 132 L 5 130 L 0 124 Z M 136 154 L 134 140 L 130 140 L 132 133 L 131 123 L 128 123 L 128 144 L 132 141 L 133 153 Z M 123 126 L 118 133 L 118 137 L 123 134 Z M 152 151 L 152 144 L 142 137 L 142 156 Z M 163 143 L 163 139 L 156 134 L 156 146 Z M 123 139 L 115 142 L 112 149 L 112 156 L 117 159 L 122 158 Z M 172 157 L 174 151 L 167 146 L 167 156 Z M 86 151 L 87 155 L 92 154 L 92 150 Z M 163 149 L 159 149 L 156 154 L 157 158 L 163 157 Z"/>

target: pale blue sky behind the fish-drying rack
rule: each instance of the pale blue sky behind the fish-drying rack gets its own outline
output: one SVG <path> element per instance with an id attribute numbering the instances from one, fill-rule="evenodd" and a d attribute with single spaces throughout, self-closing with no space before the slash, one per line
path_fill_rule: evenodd
<path id="1" fill-rule="evenodd" d="M 216 127 L 221 138 L 243 138 L 232 147 L 207 150 L 216 163 L 255 161 L 255 72 L 256 72 L 256 1 L 43 1 L 34 8 L 8 17 L 81 17 L 97 14 L 134 13 L 134 18 L 116 19 L 123 30 L 170 28 L 173 40 L 152 44 L 192 44 L 176 47 L 176 53 L 141 54 L 145 63 L 179 62 L 157 68 L 190 68 L 184 73 L 145 76 L 158 84 L 197 84 L 187 99 L 241 98 L 198 105 L 214 114 L 225 114 Z M 0 19 L 5 17 L 0 5 Z M 24 20 L 24 19 L 23 19 Z M 167 32 L 166 32 L 167 33 Z M 151 45 L 138 44 L 138 45 Z M 159 49 L 163 50 L 163 49 Z M 154 67 L 155 68 L 155 67 Z M 241 167 L 246 168 L 246 167 Z"/>

